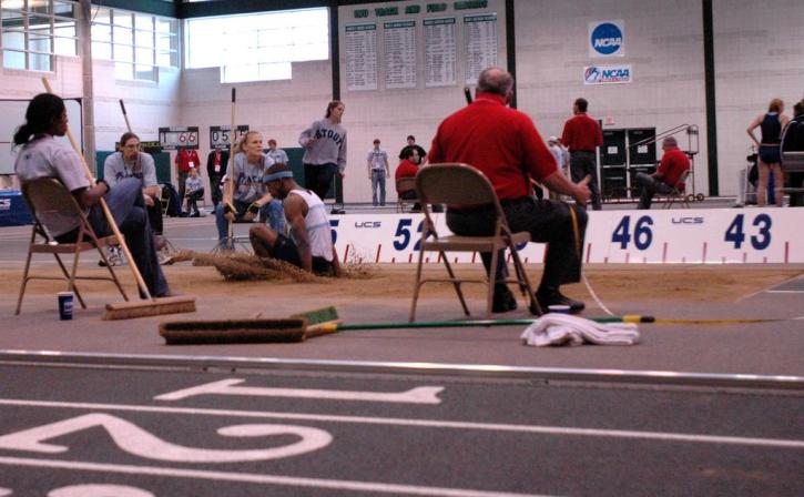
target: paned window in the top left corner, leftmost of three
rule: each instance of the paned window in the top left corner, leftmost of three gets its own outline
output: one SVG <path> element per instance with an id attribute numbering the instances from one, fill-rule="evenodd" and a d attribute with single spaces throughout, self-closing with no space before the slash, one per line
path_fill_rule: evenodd
<path id="1" fill-rule="evenodd" d="M 2 0 L 3 67 L 52 71 L 54 55 L 75 55 L 78 2 Z"/>

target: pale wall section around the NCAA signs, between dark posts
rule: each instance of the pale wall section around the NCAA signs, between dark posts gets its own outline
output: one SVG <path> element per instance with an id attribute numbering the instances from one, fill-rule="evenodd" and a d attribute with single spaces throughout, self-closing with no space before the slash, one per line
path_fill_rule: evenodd
<path id="1" fill-rule="evenodd" d="M 648 6 L 647 3 L 650 3 Z M 518 106 L 543 138 L 560 136 L 578 97 L 589 114 L 612 122 L 603 128 L 680 124 L 701 129 L 695 189 L 706 192 L 705 89 L 700 0 L 579 0 L 516 2 Z M 624 21 L 624 57 L 590 58 L 589 22 Z M 631 64 L 633 82 L 587 85 L 583 68 Z M 686 149 L 686 134 L 676 135 Z"/>

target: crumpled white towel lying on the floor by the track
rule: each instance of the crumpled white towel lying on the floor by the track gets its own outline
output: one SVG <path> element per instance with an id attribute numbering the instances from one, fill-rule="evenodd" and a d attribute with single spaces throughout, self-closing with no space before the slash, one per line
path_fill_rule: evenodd
<path id="1" fill-rule="evenodd" d="M 536 320 L 521 335 L 523 345 L 634 345 L 640 334 L 633 323 L 597 323 L 568 314 L 549 313 Z"/>

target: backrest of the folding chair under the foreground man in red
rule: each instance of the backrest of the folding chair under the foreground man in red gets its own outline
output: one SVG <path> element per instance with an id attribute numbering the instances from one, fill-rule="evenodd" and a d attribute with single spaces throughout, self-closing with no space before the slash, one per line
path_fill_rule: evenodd
<path id="1" fill-rule="evenodd" d="M 416 191 L 423 202 L 430 204 L 499 205 L 486 175 L 468 164 L 444 163 L 421 168 L 416 174 Z"/>

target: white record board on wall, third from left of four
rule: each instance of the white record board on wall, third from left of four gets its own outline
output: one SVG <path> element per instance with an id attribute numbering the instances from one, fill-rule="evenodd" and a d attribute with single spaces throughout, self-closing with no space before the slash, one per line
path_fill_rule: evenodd
<path id="1" fill-rule="evenodd" d="M 425 87 L 456 84 L 455 18 L 425 19 Z"/>

